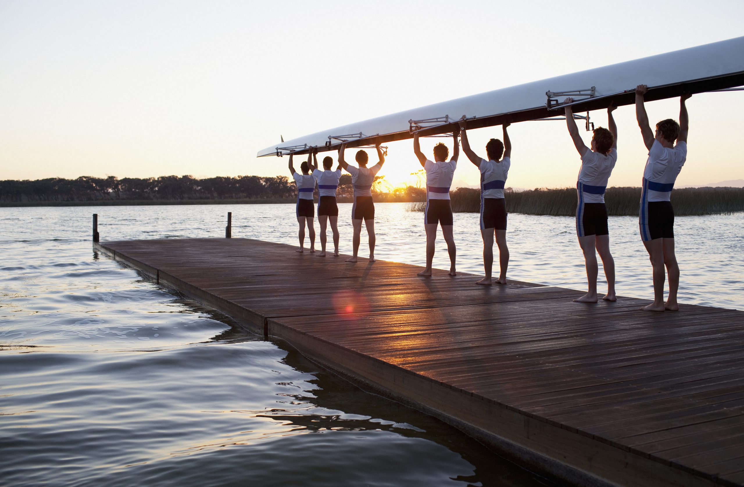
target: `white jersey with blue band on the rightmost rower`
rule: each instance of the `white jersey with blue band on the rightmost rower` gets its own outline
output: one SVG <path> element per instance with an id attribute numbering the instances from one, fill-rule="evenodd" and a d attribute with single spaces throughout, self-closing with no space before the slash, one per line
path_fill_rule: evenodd
<path id="1" fill-rule="evenodd" d="M 654 139 L 644 169 L 644 193 L 646 201 L 670 201 L 674 181 L 687 160 L 687 142 L 677 142 L 667 149 Z"/>

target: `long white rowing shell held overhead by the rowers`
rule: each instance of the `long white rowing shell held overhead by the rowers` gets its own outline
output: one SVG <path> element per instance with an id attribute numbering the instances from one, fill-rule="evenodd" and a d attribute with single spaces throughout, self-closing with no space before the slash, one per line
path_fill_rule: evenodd
<path id="1" fill-rule="evenodd" d="M 744 85 L 744 36 L 350 123 L 276 143 L 257 156 L 335 150 L 344 141 L 349 147 L 400 141 L 414 132 L 443 134 L 452 132 L 463 114 L 468 129 L 554 117 L 566 97 L 574 98 L 576 112 L 603 109 L 611 101 L 629 105 L 639 84 L 649 86 L 647 101 Z"/>

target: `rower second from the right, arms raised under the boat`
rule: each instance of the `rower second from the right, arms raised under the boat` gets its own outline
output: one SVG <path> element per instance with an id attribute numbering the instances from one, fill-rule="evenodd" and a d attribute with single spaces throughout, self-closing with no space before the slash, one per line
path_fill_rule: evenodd
<path id="1" fill-rule="evenodd" d="M 573 103 L 573 98 L 566 98 L 563 103 Z M 574 146 L 581 156 L 581 169 L 576 184 L 579 202 L 576 207 L 576 234 L 579 246 L 584 254 L 586 280 L 589 290 L 576 303 L 597 303 L 597 253 L 602 259 L 602 266 L 607 278 L 607 294 L 602 298 L 615 301 L 615 259 L 609 251 L 609 225 L 604 193 L 607 181 L 618 161 L 618 126 L 612 112 L 615 105 L 607 107 L 607 126 L 597 127 L 591 137 L 591 149 L 584 145 L 579 128 L 574 120 L 574 111 L 570 105 L 565 107 L 565 123 Z"/>

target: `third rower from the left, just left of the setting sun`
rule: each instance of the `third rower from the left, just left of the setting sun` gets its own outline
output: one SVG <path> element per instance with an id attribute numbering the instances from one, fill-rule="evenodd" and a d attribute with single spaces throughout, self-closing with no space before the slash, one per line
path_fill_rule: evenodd
<path id="1" fill-rule="evenodd" d="M 365 221 L 367 227 L 367 234 L 369 236 L 370 245 L 370 262 L 374 262 L 374 202 L 372 201 L 372 183 L 374 182 L 374 176 L 382 169 L 382 164 L 385 164 L 385 157 L 382 155 L 382 149 L 379 148 L 379 143 L 375 144 L 377 149 L 377 157 L 379 161 L 373 167 L 367 167 L 369 156 L 367 152 L 359 150 L 356 152 L 356 164 L 359 167 L 353 167 L 344 161 L 344 149 L 346 149 L 346 143 L 341 143 L 339 148 L 339 166 L 349 172 L 351 175 L 351 183 L 354 187 L 354 204 L 351 207 L 351 223 L 354 227 L 353 236 L 353 255 L 346 259 L 346 262 L 356 262 L 357 254 L 359 254 L 359 241 L 362 238 L 362 220 Z"/>

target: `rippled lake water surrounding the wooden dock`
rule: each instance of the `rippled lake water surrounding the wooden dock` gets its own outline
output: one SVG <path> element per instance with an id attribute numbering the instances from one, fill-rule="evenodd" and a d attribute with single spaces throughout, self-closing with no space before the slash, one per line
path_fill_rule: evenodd
<path id="1" fill-rule="evenodd" d="M 423 214 L 407 207 L 376 206 L 376 257 L 422 265 Z M 350 253 L 350 204 L 340 209 Z M 222 236 L 228 211 L 234 237 L 296 244 L 293 205 L 0 208 L 4 485 L 548 485 L 90 243 L 92 213 L 106 240 Z M 510 278 L 586 286 L 573 219 L 509 219 Z M 743 223 L 677 219 L 682 302 L 744 309 Z M 618 294 L 651 297 L 637 219 L 610 228 Z M 456 214 L 459 270 L 482 273 L 480 240 L 478 215 Z M 449 268 L 441 239 L 434 266 Z"/>

